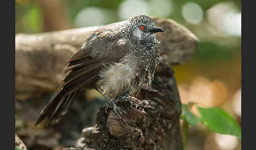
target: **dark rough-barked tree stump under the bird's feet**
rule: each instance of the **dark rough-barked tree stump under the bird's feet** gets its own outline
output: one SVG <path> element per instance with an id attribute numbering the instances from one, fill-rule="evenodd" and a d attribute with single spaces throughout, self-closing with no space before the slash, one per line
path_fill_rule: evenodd
<path id="1" fill-rule="evenodd" d="M 125 122 L 101 108 L 97 124 L 83 130 L 78 146 L 92 149 L 182 149 L 179 119 L 181 102 L 173 70 L 164 62 L 156 70 L 151 87 L 136 97 L 120 98 Z M 85 148 L 85 149 L 86 149 Z M 68 148 L 66 148 L 68 149 Z"/>

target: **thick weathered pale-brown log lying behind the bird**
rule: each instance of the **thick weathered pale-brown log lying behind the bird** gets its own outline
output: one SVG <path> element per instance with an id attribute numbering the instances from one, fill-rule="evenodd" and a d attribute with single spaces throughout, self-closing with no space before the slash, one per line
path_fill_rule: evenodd
<path id="1" fill-rule="evenodd" d="M 170 64 L 188 62 L 198 39 L 172 19 L 154 18 L 164 33 L 157 34 L 162 58 Z M 98 27 L 15 36 L 16 98 L 27 99 L 54 92 L 61 84 L 66 60 L 81 49 L 83 41 Z"/>

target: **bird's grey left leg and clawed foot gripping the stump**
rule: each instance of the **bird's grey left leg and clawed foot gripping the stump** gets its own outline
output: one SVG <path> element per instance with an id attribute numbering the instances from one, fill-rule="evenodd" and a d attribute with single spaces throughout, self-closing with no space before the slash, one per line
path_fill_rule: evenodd
<path id="1" fill-rule="evenodd" d="M 106 95 L 101 88 L 96 88 L 96 90 L 103 95 L 103 97 L 107 100 L 107 103 L 104 105 L 105 111 L 107 113 L 106 108 L 112 108 L 115 114 L 121 119 L 124 120 L 123 113 L 125 113 L 124 110 L 122 110 L 119 106 L 116 105 L 114 102 L 114 99 L 111 99 L 108 95 Z"/>

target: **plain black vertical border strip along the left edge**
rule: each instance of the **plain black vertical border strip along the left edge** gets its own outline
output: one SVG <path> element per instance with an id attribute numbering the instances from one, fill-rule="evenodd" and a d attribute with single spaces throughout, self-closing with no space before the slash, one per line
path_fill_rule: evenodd
<path id="1" fill-rule="evenodd" d="M 15 1 L 5 1 L 1 14 L 1 149 L 15 148 Z"/>

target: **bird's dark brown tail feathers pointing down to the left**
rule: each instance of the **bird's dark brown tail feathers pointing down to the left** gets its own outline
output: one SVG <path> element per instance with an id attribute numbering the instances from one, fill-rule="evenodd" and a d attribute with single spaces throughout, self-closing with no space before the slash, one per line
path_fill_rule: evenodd
<path id="1" fill-rule="evenodd" d="M 50 102 L 41 111 L 35 125 L 43 120 L 46 120 L 46 125 L 56 123 L 65 115 L 70 109 L 78 91 L 65 94 L 62 88 L 53 95 Z"/>

